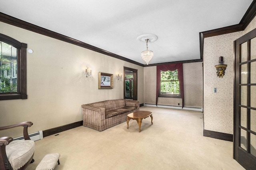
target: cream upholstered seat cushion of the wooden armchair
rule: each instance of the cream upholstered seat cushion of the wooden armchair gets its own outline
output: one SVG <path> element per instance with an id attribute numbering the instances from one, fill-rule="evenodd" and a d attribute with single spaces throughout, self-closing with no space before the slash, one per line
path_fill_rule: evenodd
<path id="1" fill-rule="evenodd" d="M 13 170 L 26 164 L 33 156 L 35 143 L 32 140 L 17 140 L 6 145 L 6 155 Z"/>

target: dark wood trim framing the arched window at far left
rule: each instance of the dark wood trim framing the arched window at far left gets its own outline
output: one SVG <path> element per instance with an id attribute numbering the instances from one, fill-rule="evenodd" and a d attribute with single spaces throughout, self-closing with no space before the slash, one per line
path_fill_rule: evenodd
<path id="1" fill-rule="evenodd" d="M 0 100 L 27 99 L 27 44 L 20 43 L 12 37 L 0 33 L 0 41 L 8 43 L 18 49 L 17 56 L 17 93 L 0 93 Z"/>

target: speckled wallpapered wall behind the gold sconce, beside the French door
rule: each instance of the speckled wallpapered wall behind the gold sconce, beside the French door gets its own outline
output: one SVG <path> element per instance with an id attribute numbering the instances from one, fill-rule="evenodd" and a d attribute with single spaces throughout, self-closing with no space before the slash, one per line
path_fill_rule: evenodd
<path id="1" fill-rule="evenodd" d="M 256 28 L 256 18 L 244 31 L 204 39 L 204 129 L 233 134 L 234 41 Z M 216 76 L 218 57 L 227 64 L 223 78 Z M 213 89 L 217 88 L 217 93 Z"/>

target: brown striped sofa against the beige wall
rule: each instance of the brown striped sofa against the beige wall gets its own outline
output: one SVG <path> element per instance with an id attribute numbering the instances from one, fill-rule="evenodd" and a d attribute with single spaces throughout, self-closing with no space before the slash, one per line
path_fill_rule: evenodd
<path id="1" fill-rule="evenodd" d="M 97 131 L 104 131 L 110 127 L 123 123 L 127 115 L 139 111 L 137 100 L 106 100 L 82 105 L 83 125 Z"/>

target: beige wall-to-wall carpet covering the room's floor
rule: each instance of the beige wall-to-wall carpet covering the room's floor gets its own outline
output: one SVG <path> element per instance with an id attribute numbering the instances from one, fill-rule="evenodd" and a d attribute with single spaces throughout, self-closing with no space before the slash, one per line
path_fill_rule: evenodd
<path id="1" fill-rule="evenodd" d="M 34 170 L 44 155 L 60 153 L 55 170 L 244 170 L 232 158 L 232 142 L 203 137 L 198 111 L 141 107 L 153 112 L 141 132 L 130 120 L 98 132 L 77 127 L 36 141 Z"/>

